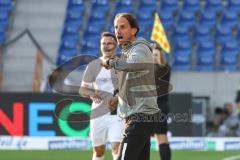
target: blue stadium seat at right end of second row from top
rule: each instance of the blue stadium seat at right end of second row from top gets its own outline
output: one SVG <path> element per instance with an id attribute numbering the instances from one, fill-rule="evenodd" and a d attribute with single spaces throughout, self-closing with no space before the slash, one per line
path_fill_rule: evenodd
<path id="1" fill-rule="evenodd" d="M 239 23 L 237 13 L 231 10 L 225 10 L 222 14 L 220 23 L 224 27 L 236 28 Z"/>

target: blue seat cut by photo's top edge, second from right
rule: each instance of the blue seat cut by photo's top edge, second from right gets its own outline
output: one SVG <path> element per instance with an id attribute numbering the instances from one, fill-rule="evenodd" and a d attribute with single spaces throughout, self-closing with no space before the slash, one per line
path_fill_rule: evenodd
<path id="1" fill-rule="evenodd" d="M 205 10 L 207 12 L 219 13 L 223 10 L 224 6 L 221 0 L 206 0 Z"/>

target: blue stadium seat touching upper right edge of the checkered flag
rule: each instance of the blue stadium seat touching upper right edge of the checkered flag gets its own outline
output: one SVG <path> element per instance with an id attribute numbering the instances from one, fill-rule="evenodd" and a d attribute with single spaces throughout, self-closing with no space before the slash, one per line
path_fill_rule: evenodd
<path id="1" fill-rule="evenodd" d="M 172 30 L 174 27 L 174 17 L 172 12 L 169 12 L 168 10 L 160 10 L 159 16 L 164 29 L 166 31 Z"/>

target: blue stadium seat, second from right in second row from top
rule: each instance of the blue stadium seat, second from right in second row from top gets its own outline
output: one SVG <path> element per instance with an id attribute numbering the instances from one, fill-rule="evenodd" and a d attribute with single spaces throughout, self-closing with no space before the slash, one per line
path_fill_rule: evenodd
<path id="1" fill-rule="evenodd" d="M 199 24 L 204 27 L 213 28 L 216 24 L 216 14 L 203 10 L 200 14 Z"/>

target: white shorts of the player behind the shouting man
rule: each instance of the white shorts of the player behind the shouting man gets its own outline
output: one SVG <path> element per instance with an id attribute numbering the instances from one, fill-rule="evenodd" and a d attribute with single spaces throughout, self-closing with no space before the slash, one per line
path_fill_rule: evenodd
<path id="1" fill-rule="evenodd" d="M 90 121 L 90 137 L 94 147 L 107 142 L 121 142 L 123 131 L 123 120 L 117 115 L 104 115 Z"/>

